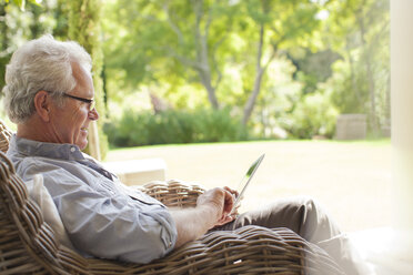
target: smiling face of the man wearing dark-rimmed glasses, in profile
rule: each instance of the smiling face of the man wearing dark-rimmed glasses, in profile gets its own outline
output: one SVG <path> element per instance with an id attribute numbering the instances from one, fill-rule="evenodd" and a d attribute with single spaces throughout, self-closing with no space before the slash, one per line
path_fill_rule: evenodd
<path id="1" fill-rule="evenodd" d="M 87 71 L 78 63 L 72 63 L 77 85 L 68 95 L 91 100 L 94 96 L 93 81 Z M 98 120 L 95 109 L 90 110 L 90 103 L 79 99 L 64 96 L 63 108 L 56 108 L 51 116 L 54 140 L 58 143 L 70 143 L 83 150 L 88 144 L 88 129 L 92 120 Z"/>

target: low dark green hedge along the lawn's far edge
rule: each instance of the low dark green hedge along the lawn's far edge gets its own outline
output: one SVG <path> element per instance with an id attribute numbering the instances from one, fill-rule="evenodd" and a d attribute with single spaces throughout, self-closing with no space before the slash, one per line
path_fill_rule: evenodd
<path id="1" fill-rule="evenodd" d="M 228 109 L 199 109 L 193 112 L 127 110 L 119 121 L 107 123 L 104 131 L 113 146 L 138 146 L 167 143 L 229 142 L 246 140 L 240 119 Z"/>

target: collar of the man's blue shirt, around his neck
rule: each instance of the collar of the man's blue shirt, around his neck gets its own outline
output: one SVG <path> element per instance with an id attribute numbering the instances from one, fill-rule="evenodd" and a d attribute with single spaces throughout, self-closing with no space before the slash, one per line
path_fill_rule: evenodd
<path id="1" fill-rule="evenodd" d="M 43 156 L 68 161 L 84 160 L 83 153 L 80 151 L 79 146 L 74 144 L 39 142 L 19 138 L 13 134 L 10 139 L 9 146 L 26 156 Z"/>

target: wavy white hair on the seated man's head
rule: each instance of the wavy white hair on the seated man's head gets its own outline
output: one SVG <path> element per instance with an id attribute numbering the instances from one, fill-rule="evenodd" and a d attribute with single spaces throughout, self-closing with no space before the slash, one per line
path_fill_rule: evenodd
<path id="1" fill-rule="evenodd" d="M 47 34 L 20 47 L 6 68 L 4 109 L 14 123 L 23 123 L 34 112 L 34 95 L 43 90 L 54 99 L 71 91 L 77 82 L 72 62 L 91 71 L 89 53 L 77 42 L 59 42 Z"/>

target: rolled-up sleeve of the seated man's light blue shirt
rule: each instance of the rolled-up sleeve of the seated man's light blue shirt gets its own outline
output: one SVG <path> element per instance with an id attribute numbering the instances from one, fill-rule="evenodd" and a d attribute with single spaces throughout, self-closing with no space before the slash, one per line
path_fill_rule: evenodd
<path id="1" fill-rule="evenodd" d="M 42 173 L 44 186 L 79 251 L 145 264 L 173 249 L 177 227 L 163 205 L 132 200 L 117 189 L 97 190 L 101 177 L 83 179 L 54 164 L 34 162 L 27 166 L 23 179 L 30 180 L 37 173 Z"/>

